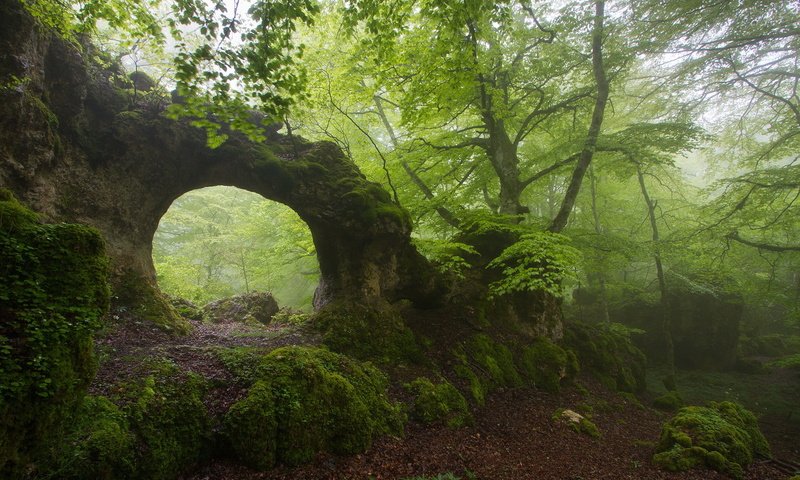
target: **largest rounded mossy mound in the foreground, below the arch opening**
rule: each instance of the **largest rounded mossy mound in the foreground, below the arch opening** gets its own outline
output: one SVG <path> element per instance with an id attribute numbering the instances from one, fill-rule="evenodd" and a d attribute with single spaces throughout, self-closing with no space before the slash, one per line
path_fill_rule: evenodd
<path id="1" fill-rule="evenodd" d="M 250 467 L 297 465 L 320 451 L 358 453 L 377 435 L 402 432 L 388 381 L 368 363 L 309 347 L 235 356 L 229 352 L 226 363 L 255 383 L 225 415 L 224 432 L 232 454 Z"/>

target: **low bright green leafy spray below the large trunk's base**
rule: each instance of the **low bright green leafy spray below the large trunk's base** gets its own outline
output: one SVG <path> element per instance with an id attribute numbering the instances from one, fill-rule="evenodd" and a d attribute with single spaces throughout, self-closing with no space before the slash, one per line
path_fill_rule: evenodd
<path id="1" fill-rule="evenodd" d="M 549 232 L 522 235 L 518 242 L 489 263 L 489 268 L 503 272 L 503 278 L 489 286 L 490 295 L 544 291 L 561 297 L 561 282 L 565 278 L 576 278 L 575 267 L 579 261 L 580 253 L 563 235 Z"/>

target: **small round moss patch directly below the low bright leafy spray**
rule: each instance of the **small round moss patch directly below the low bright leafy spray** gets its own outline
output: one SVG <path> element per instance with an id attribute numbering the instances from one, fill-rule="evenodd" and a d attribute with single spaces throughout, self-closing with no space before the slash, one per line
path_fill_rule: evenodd
<path id="1" fill-rule="evenodd" d="M 574 355 L 568 353 L 548 338 L 537 338 L 522 350 L 522 372 L 536 388 L 558 392 L 561 380 L 570 370 L 577 370 Z M 569 368 L 568 368 L 569 366 Z"/>

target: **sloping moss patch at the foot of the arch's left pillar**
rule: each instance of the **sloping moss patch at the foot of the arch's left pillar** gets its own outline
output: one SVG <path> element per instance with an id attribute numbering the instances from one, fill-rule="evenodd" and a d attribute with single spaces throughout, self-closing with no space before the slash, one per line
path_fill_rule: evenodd
<path id="1" fill-rule="evenodd" d="M 132 308 L 139 318 L 166 331 L 182 335 L 191 329 L 155 283 L 132 270 L 114 279 L 114 298 L 116 303 Z"/>

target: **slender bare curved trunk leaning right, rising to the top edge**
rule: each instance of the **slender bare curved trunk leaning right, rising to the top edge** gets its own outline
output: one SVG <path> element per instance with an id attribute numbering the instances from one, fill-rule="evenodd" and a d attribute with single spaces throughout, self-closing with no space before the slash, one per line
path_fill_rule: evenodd
<path id="1" fill-rule="evenodd" d="M 595 146 L 597 145 L 597 137 L 600 135 L 600 127 L 603 124 L 603 117 L 605 115 L 606 102 L 608 101 L 608 78 L 606 78 L 605 67 L 603 66 L 603 20 L 604 20 L 605 2 L 597 0 L 595 2 L 595 16 L 594 28 L 592 29 L 592 71 L 594 73 L 595 82 L 597 83 L 597 97 L 595 99 L 594 111 L 592 112 L 592 123 L 589 125 L 589 133 L 586 135 L 586 141 L 583 144 L 581 157 L 575 165 L 575 170 L 572 172 L 572 179 L 570 180 L 567 192 L 564 194 L 564 201 L 561 203 L 561 209 L 550 224 L 549 230 L 551 232 L 560 232 L 567 226 L 567 220 L 572 212 L 572 207 L 575 206 L 575 200 L 578 198 L 578 192 L 581 189 L 583 176 L 592 162 Z"/>

